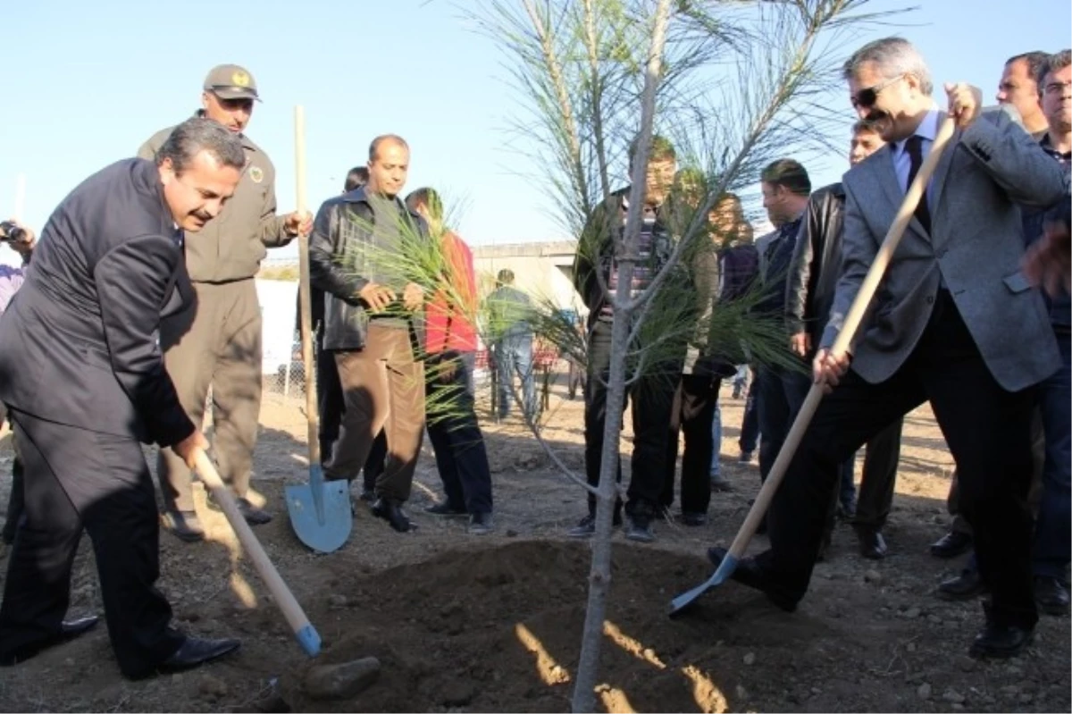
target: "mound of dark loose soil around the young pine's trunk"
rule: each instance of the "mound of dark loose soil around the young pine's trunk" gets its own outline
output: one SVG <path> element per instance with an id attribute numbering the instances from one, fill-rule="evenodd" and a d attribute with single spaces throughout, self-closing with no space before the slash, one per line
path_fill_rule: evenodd
<path id="1" fill-rule="evenodd" d="M 301 691 L 302 670 L 284 681 L 286 699 L 299 712 L 566 711 L 589 559 L 584 544 L 523 541 L 343 576 L 333 591 L 345 593 L 345 603 L 336 596 L 331 610 L 315 616 L 338 625 L 317 664 L 375 656 L 379 681 L 348 704 L 315 702 Z M 729 700 L 747 696 L 727 671 L 726 642 L 781 646 L 822 634 L 759 601 L 742 607 L 756 598 L 735 585 L 726 589 L 736 600 L 732 614 L 701 605 L 670 620 L 671 594 L 708 571 L 695 556 L 616 547 L 601 668 L 607 711 L 725 712 Z M 791 649 L 781 656 L 792 658 Z M 734 659 L 732 668 L 746 666 Z"/>

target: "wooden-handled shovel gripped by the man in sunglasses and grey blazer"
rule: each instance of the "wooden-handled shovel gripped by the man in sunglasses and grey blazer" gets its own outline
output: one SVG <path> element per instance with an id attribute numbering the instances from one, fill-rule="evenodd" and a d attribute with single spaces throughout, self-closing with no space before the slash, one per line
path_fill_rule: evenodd
<path id="1" fill-rule="evenodd" d="M 947 117 L 942 122 L 941 128 L 939 128 L 938 135 L 935 137 L 934 146 L 930 147 L 930 153 L 927 154 L 927 159 L 920 167 L 920 172 L 917 174 L 915 180 L 912 181 L 912 185 L 908 188 L 908 192 L 905 194 L 905 200 L 900 205 L 900 210 L 897 211 L 896 218 L 890 225 L 890 229 L 887 232 L 885 238 L 882 240 L 882 244 L 878 249 L 878 254 L 875 255 L 875 262 L 872 263 L 870 268 L 867 270 L 867 277 L 864 278 L 864 282 L 860 286 L 860 292 L 857 293 L 857 298 L 852 301 L 849 314 L 845 317 L 845 325 L 842 328 L 842 331 L 838 332 L 837 340 L 834 341 L 833 347 L 831 347 L 831 354 L 844 355 L 848 352 L 849 345 L 851 344 L 853 337 L 855 337 L 857 329 L 863 321 L 864 313 L 870 304 L 872 298 L 875 296 L 875 291 L 878 288 L 879 282 L 881 282 L 882 277 L 885 274 L 885 268 L 890 264 L 890 259 L 893 257 L 894 251 L 897 250 L 902 236 L 905 235 L 905 228 L 908 227 L 909 221 L 912 220 L 915 207 L 919 205 L 920 198 L 923 196 L 923 191 L 925 190 L 927 182 L 930 180 L 930 175 L 934 174 L 935 168 L 938 165 L 938 160 L 941 158 L 941 153 L 946 149 L 946 145 L 949 144 L 950 138 L 953 136 L 955 128 L 956 125 L 952 117 Z M 804 404 L 801 406 L 800 413 L 796 415 L 796 419 L 793 421 L 792 428 L 786 435 L 786 441 L 781 445 L 781 450 L 778 451 L 778 458 L 774 461 L 774 465 L 771 466 L 771 473 L 768 475 L 763 486 L 759 489 L 759 494 L 756 496 L 756 501 L 753 503 L 751 509 L 748 511 L 748 516 L 744 519 L 744 523 L 741 525 L 741 530 L 738 532 L 736 537 L 733 538 L 733 542 L 730 546 L 729 551 L 726 553 L 726 557 L 723 559 L 718 568 L 715 569 L 714 575 L 712 575 L 705 582 L 694 587 L 687 593 L 682 593 L 670 601 L 670 616 L 680 613 L 683 609 L 695 603 L 696 599 L 705 592 L 715 585 L 720 585 L 726 582 L 729 580 L 730 576 L 733 575 L 738 563 L 741 561 L 745 549 L 748 547 L 748 542 L 756 534 L 756 529 L 759 527 L 760 521 L 766 514 L 766 509 L 771 505 L 771 500 L 774 497 L 774 493 L 778 490 L 778 486 L 781 485 L 781 479 L 785 477 L 786 471 L 789 468 L 789 463 L 792 461 L 793 455 L 796 452 L 796 447 L 800 445 L 801 437 L 804 436 L 804 432 L 807 431 L 807 427 L 812 422 L 812 417 L 815 416 L 815 412 L 819 407 L 820 401 L 822 401 L 822 386 L 813 384 L 812 388 L 807 392 L 807 397 L 804 399 Z"/>

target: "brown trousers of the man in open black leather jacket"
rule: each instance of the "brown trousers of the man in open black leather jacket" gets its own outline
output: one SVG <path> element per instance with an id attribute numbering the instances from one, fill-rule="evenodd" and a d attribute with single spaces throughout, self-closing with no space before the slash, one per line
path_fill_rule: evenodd
<path id="1" fill-rule="evenodd" d="M 408 500 L 425 438 L 425 367 L 414 358 L 410 330 L 373 322 L 363 349 L 339 351 L 334 358 L 345 408 L 325 477 L 354 479 L 383 430 L 388 455 L 376 495 Z"/>

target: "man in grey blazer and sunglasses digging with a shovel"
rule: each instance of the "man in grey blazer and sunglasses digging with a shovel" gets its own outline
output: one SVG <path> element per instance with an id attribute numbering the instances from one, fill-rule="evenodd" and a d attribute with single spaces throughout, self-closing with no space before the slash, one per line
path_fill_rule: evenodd
<path id="1" fill-rule="evenodd" d="M 843 274 L 815 359 L 816 383 L 832 391 L 772 504 L 771 549 L 742 561 L 734 579 L 794 609 L 812 577 L 837 464 L 929 401 L 993 592 L 970 653 L 1013 656 L 1038 621 L 1027 508 L 1033 387 L 1059 365 L 1042 297 L 1019 270 L 1017 204 L 1056 204 L 1061 172 L 1011 115 L 981 116 L 977 88 L 947 85 L 957 131 L 849 354 L 834 356 L 845 315 L 947 116 L 930 96 L 923 58 L 899 38 L 859 49 L 845 78 L 857 114 L 888 146 L 845 175 Z M 725 551 L 709 554 L 720 562 Z"/>

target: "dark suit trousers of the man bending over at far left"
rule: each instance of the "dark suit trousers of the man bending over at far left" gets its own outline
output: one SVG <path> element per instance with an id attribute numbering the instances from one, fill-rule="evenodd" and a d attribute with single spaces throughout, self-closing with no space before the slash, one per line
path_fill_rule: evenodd
<path id="1" fill-rule="evenodd" d="M 93 541 L 104 615 L 119 668 L 151 672 L 182 643 L 172 608 L 154 586 L 160 524 L 137 441 L 13 412 L 25 461 L 26 512 L 0 605 L 0 658 L 60 633 L 83 529 Z"/>

